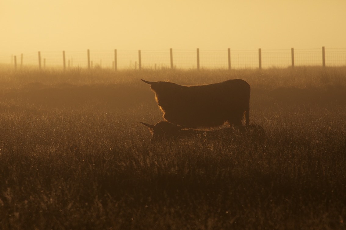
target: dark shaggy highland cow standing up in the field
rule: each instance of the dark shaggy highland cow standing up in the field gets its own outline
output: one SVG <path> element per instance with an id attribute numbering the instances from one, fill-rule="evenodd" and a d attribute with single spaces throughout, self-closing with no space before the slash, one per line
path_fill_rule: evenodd
<path id="1" fill-rule="evenodd" d="M 172 82 L 150 82 L 155 100 L 166 121 L 186 128 L 230 126 L 250 123 L 250 85 L 242 79 L 181 86 Z"/>

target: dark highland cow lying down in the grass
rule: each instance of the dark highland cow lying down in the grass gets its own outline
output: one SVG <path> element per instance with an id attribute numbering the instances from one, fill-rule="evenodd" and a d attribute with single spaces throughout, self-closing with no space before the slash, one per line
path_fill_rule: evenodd
<path id="1" fill-rule="evenodd" d="M 177 126 L 168 121 L 159 121 L 156 124 L 140 123 L 149 127 L 152 133 L 152 140 L 187 139 L 191 137 L 202 137 L 204 139 L 215 140 L 232 137 L 232 135 L 239 133 L 251 134 L 253 137 L 263 137 L 265 134 L 264 129 L 257 124 L 217 130 L 196 130 L 191 128 L 186 129 L 184 126 Z"/>

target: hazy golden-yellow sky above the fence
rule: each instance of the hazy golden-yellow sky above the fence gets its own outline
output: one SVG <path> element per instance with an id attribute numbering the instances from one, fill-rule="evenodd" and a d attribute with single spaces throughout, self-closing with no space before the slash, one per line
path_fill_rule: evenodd
<path id="1" fill-rule="evenodd" d="M 346 48 L 345 0 L 1 0 L 0 56 Z"/>

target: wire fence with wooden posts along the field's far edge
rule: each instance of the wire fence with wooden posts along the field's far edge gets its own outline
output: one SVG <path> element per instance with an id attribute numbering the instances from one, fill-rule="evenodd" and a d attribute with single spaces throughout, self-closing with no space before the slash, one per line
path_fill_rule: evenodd
<path id="1" fill-rule="evenodd" d="M 13 68 L 251 69 L 346 66 L 346 49 L 38 51 L 1 56 Z"/>

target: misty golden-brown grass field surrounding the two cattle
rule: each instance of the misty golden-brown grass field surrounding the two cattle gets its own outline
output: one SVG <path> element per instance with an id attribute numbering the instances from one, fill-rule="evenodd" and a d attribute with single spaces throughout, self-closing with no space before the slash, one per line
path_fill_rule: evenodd
<path id="1" fill-rule="evenodd" d="M 251 85 L 246 135 L 150 142 L 140 79 Z M 344 229 L 346 68 L 0 70 L 1 229 Z"/>

